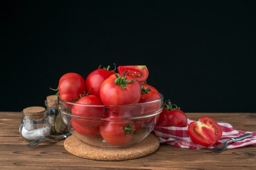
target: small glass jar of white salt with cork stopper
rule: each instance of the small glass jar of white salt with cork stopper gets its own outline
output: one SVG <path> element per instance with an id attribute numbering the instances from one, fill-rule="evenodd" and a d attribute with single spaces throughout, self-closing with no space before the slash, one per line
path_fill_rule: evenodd
<path id="1" fill-rule="evenodd" d="M 50 134 L 51 128 L 43 107 L 32 106 L 21 111 L 20 135 L 27 141 L 40 139 Z"/>

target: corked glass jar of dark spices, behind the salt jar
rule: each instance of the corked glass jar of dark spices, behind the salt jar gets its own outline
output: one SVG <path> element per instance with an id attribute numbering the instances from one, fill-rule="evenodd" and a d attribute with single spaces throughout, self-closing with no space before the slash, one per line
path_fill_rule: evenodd
<path id="1" fill-rule="evenodd" d="M 45 106 L 47 106 L 47 119 L 51 126 L 51 135 L 59 136 L 69 133 L 61 114 L 58 113 L 58 97 L 56 95 L 47 96 Z"/>

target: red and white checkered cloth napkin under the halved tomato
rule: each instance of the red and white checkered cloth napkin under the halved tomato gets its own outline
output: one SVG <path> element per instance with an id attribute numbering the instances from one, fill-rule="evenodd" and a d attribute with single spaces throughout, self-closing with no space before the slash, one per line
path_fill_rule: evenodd
<path id="1" fill-rule="evenodd" d="M 188 119 L 188 126 L 192 121 L 194 120 Z M 228 123 L 218 123 L 218 124 L 222 129 L 222 137 L 216 144 L 208 148 L 214 148 L 216 145 L 223 143 L 228 139 L 238 137 L 246 133 L 252 133 L 247 131 L 236 130 L 235 128 L 233 128 L 233 126 L 231 126 L 231 124 L 228 124 Z M 166 143 L 166 144 L 177 146 L 180 148 L 190 148 L 190 149 L 204 148 L 204 146 L 195 144 L 193 143 L 193 141 L 191 141 L 188 134 L 188 127 L 180 128 L 180 127 L 174 127 L 174 126 L 170 126 L 170 127 L 155 126 L 152 133 L 159 139 L 159 142 L 162 144 Z M 253 134 L 254 136 L 252 137 L 229 144 L 227 146 L 227 149 L 240 148 L 243 146 L 256 144 L 256 133 L 253 133 Z"/>

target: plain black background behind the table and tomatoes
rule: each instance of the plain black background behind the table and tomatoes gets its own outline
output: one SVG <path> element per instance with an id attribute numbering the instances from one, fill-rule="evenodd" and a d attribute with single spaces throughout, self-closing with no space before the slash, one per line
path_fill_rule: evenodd
<path id="1" fill-rule="evenodd" d="M 256 5 L 9 1 L 1 5 L 1 111 L 44 106 L 64 73 L 146 65 L 184 112 L 256 112 Z"/>

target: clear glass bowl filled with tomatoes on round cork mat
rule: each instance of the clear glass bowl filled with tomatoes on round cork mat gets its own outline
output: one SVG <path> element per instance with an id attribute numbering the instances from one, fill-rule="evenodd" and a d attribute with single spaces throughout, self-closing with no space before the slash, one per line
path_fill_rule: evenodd
<path id="1" fill-rule="evenodd" d="M 87 105 L 58 98 L 58 110 L 71 134 L 97 148 L 122 148 L 139 143 L 155 128 L 163 110 L 161 97 L 126 105 Z"/>

